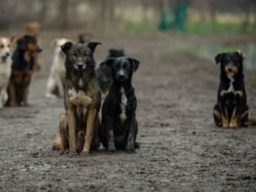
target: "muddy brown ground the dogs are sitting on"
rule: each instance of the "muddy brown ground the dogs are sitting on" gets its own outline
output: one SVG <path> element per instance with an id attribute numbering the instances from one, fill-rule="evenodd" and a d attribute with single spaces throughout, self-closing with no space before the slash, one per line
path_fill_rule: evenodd
<path id="1" fill-rule="evenodd" d="M 44 68 L 32 81 L 30 107 L 0 111 L 0 191 L 256 191 L 256 127 L 216 128 L 218 66 L 170 51 L 178 44 L 246 43 L 249 38 L 96 37 L 103 43 L 96 49 L 98 62 L 113 47 L 141 60 L 133 79 L 141 148 L 133 155 L 93 151 L 71 157 L 51 149 L 63 101 L 44 97 L 49 42 L 60 36 L 41 35 Z M 74 38 L 74 33 L 65 36 Z M 246 88 L 249 114 L 256 115 L 255 71 L 246 71 Z"/>

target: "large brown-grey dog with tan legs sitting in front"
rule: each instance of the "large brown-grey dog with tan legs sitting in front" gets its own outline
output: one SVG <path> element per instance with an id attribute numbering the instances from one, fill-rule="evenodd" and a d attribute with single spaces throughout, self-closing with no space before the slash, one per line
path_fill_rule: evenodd
<path id="1" fill-rule="evenodd" d="M 88 154 L 91 148 L 99 146 L 99 108 L 101 91 L 95 73 L 94 50 L 98 42 L 74 44 L 66 42 L 61 46 L 65 59 L 65 109 L 60 117 L 60 138 L 52 144 L 69 154 Z M 77 134 L 85 132 L 84 146 L 76 146 Z M 60 141 L 61 144 L 58 144 Z M 80 142 L 82 143 L 82 141 Z M 58 146 L 62 146 L 58 148 Z"/>

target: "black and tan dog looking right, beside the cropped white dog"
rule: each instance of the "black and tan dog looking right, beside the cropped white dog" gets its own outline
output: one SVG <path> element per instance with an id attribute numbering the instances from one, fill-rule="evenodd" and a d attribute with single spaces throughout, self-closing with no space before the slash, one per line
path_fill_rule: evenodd
<path id="1" fill-rule="evenodd" d="M 36 52 L 43 49 L 37 43 L 37 38 L 32 35 L 24 35 L 16 42 L 16 49 L 12 55 L 12 73 L 8 86 L 10 106 L 27 106 L 30 80 L 34 71 Z"/>

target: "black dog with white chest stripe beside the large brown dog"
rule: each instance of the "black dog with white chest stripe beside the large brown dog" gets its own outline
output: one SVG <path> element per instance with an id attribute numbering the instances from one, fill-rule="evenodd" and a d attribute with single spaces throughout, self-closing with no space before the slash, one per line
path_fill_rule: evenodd
<path id="1" fill-rule="evenodd" d="M 138 148 L 137 98 L 132 87 L 132 76 L 139 64 L 137 59 L 129 57 L 105 61 L 112 71 L 113 82 L 102 107 L 100 138 L 108 154 L 115 154 L 116 149 L 125 149 L 132 154 Z"/>

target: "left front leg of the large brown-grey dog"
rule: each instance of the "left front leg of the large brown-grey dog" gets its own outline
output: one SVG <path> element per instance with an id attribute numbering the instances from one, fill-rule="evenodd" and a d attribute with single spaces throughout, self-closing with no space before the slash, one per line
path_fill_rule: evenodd
<path id="1" fill-rule="evenodd" d="M 76 154 L 76 110 L 73 104 L 68 104 L 68 141 L 69 154 Z"/>

